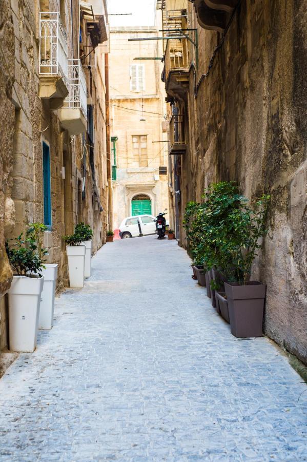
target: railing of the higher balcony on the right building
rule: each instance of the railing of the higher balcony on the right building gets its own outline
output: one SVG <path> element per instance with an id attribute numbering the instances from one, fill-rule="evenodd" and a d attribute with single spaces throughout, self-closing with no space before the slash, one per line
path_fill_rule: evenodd
<path id="1" fill-rule="evenodd" d="M 180 71 L 180 69 L 187 69 L 188 67 L 187 38 L 170 38 L 165 50 L 166 77 L 172 70 Z"/>

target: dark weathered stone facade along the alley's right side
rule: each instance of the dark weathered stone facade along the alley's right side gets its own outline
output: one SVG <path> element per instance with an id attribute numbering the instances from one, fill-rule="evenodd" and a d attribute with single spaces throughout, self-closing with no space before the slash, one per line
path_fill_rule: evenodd
<path id="1" fill-rule="evenodd" d="M 225 35 L 200 27 L 196 12 L 206 27 L 217 24 L 207 2 L 185 8 L 198 56 L 189 42 L 178 88 L 166 82 L 187 143 L 184 155 L 172 157 L 180 243 L 187 202 L 200 200 L 211 182 L 235 180 L 251 200 L 270 194 L 269 234 L 253 267 L 267 284 L 264 332 L 307 362 L 307 2 L 241 1 Z M 175 209 L 175 194 L 172 200 Z"/>

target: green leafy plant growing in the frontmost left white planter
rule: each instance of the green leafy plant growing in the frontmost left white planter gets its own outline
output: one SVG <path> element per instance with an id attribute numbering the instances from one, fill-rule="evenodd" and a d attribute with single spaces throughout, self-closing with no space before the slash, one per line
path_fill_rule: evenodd
<path id="1" fill-rule="evenodd" d="M 37 252 L 36 240 L 33 236 L 28 235 L 23 239 L 21 233 L 15 240 L 10 240 L 15 242 L 9 246 L 9 242 L 6 241 L 6 252 L 14 272 L 18 276 L 31 277 L 33 274 L 41 276 L 43 262 Z"/>

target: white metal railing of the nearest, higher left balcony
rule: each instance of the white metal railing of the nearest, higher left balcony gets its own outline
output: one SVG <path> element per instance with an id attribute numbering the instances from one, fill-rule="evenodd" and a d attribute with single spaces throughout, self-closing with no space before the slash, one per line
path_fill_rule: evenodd
<path id="1" fill-rule="evenodd" d="M 39 13 L 39 73 L 60 75 L 68 86 L 67 34 L 59 13 Z"/>

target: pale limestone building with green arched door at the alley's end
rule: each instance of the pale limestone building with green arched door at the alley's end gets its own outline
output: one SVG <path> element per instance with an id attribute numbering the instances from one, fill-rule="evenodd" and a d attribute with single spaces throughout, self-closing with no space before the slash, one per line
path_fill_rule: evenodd
<path id="1" fill-rule="evenodd" d="M 113 222 L 168 208 L 165 90 L 155 27 L 111 27 L 110 118 Z M 135 60 L 135 58 L 144 58 Z"/>

